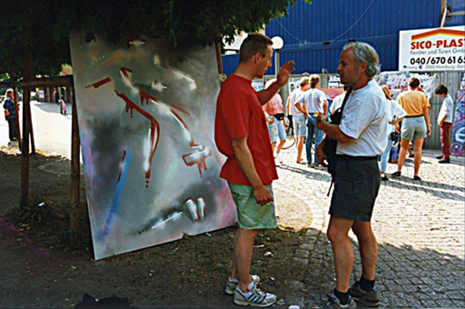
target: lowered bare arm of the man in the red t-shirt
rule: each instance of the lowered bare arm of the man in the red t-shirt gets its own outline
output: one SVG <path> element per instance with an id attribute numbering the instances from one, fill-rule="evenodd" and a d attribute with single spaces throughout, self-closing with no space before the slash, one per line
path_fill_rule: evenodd
<path id="1" fill-rule="evenodd" d="M 272 194 L 270 190 L 262 184 L 262 180 L 255 170 L 252 154 L 247 145 L 247 137 L 233 139 L 233 152 L 243 174 L 245 174 L 245 177 L 253 188 L 253 195 L 257 203 L 263 205 L 271 202 Z"/>

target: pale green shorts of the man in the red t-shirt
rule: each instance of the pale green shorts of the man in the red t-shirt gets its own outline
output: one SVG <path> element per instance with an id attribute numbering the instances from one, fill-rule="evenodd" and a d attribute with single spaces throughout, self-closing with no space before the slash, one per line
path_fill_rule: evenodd
<path id="1" fill-rule="evenodd" d="M 237 208 L 237 221 L 244 230 L 276 228 L 274 202 L 257 204 L 250 185 L 229 184 L 234 204 Z M 266 186 L 272 193 L 272 185 Z"/>

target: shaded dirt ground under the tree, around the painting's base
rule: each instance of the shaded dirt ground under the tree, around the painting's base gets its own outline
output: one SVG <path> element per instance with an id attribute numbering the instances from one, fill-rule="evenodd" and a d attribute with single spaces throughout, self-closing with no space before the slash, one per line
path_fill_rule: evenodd
<path id="1" fill-rule="evenodd" d="M 69 308 L 84 293 L 128 297 L 140 308 L 236 307 L 223 292 L 232 266 L 235 227 L 94 261 L 84 184 L 80 245 L 68 245 L 70 161 L 32 155 L 30 205 L 20 210 L 21 155 L 16 153 L 17 148 L 0 147 L 0 307 Z M 263 290 L 278 295 L 276 307 L 287 308 L 304 292 L 289 283 L 302 272 L 292 263 L 292 254 L 312 214 L 310 209 L 296 209 L 303 203 L 279 188 L 275 196 L 280 226 L 256 239 L 252 273 L 262 277 Z"/>

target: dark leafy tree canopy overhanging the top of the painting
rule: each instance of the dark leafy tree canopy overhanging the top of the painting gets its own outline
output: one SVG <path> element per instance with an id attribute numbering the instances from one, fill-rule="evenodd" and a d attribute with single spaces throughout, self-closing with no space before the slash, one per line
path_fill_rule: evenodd
<path id="1" fill-rule="evenodd" d="M 3 4 L 0 19 L 0 72 L 20 74 L 26 52 L 33 74 L 55 75 L 70 64 L 71 31 L 124 37 L 167 35 L 173 45 L 188 35 L 211 44 L 219 36 L 231 42 L 241 31 L 254 32 L 288 13 L 299 0 L 17 0 Z M 304 0 L 312 3 L 311 0 Z"/>

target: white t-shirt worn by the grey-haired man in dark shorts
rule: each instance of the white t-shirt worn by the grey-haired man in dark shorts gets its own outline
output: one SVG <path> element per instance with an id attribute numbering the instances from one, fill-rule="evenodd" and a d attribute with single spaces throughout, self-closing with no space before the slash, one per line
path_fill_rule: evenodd
<path id="1" fill-rule="evenodd" d="M 339 142 L 336 154 L 375 156 L 384 152 L 388 144 L 386 103 L 386 96 L 375 80 L 352 91 L 344 106 L 339 128 L 353 139 L 347 143 Z"/>

